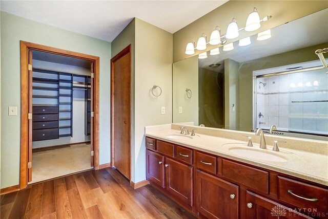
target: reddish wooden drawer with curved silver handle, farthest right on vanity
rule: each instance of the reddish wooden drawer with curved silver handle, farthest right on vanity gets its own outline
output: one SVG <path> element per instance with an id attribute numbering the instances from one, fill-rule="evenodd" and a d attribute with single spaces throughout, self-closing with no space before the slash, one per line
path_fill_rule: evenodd
<path id="1" fill-rule="evenodd" d="M 327 195 L 328 190 L 326 189 L 278 176 L 278 198 L 280 201 L 299 208 L 328 212 Z"/>

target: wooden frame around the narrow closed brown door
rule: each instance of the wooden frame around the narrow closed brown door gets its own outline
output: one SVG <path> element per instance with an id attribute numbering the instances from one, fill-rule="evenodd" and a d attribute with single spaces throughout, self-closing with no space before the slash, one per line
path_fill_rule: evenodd
<path id="1" fill-rule="evenodd" d="M 113 58 L 111 58 L 111 161 L 110 161 L 110 164 L 111 164 L 111 167 L 114 166 L 114 141 L 113 141 L 113 134 L 114 134 L 114 116 L 115 116 L 115 113 L 114 113 L 114 95 L 113 95 L 113 92 L 114 92 L 114 74 L 113 74 L 113 71 L 114 71 L 114 62 L 117 61 L 118 59 L 120 59 L 121 57 L 125 56 L 126 54 L 130 53 L 130 81 L 132 81 L 132 78 L 131 78 L 131 75 L 132 75 L 132 55 L 131 55 L 131 44 L 129 46 L 127 46 L 126 48 L 124 48 L 122 51 L 120 51 L 117 55 L 115 55 Z M 130 87 L 128 87 L 128 89 L 130 89 L 130 95 L 132 95 L 132 92 L 131 92 L 131 84 L 130 84 Z M 129 104 L 129 108 L 130 108 L 130 113 L 131 112 L 131 100 L 132 100 L 132 97 L 130 96 L 130 104 Z M 129 124 L 131 125 L 131 118 L 132 118 L 132 115 L 130 115 L 130 121 L 129 121 Z M 131 160 L 131 154 L 132 154 L 132 149 L 131 149 L 131 146 L 132 146 L 132 142 L 131 142 L 131 131 L 132 131 L 132 128 L 130 127 L 130 133 L 129 133 L 129 139 L 130 139 L 130 183 L 132 182 L 132 160 Z"/>

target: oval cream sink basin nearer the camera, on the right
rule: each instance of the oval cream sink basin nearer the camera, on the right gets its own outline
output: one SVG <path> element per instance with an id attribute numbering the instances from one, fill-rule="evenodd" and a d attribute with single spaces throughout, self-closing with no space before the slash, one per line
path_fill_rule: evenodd
<path id="1" fill-rule="evenodd" d="M 274 152 L 267 150 L 259 150 L 253 148 L 244 148 L 244 147 L 231 147 L 229 151 L 235 155 L 239 155 L 245 158 L 251 158 L 254 160 L 265 160 L 265 161 L 274 161 L 274 162 L 287 162 L 288 160 L 282 156 L 277 155 Z"/>

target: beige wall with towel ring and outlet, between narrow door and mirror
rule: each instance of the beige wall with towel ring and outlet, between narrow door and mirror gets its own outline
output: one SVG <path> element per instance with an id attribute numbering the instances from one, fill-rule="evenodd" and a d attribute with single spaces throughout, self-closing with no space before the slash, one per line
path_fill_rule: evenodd
<path id="1" fill-rule="evenodd" d="M 134 182 L 146 179 L 145 126 L 172 122 L 172 46 L 171 33 L 136 18 Z M 157 98 L 151 94 L 153 85 L 162 89 Z"/>

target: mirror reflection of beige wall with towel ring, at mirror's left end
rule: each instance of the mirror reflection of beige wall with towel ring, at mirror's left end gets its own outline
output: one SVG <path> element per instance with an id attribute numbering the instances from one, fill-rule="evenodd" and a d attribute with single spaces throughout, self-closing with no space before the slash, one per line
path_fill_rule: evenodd
<path id="1" fill-rule="evenodd" d="M 173 122 L 194 122 L 198 125 L 198 56 L 173 64 Z M 188 98 L 186 88 L 192 91 Z M 182 114 L 179 114 L 179 107 Z"/>

